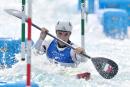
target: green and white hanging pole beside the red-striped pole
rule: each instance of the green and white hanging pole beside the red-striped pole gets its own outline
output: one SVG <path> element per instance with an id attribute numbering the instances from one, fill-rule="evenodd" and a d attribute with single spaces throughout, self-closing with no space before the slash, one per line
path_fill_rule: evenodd
<path id="1" fill-rule="evenodd" d="M 25 0 L 22 0 L 22 12 L 25 14 Z M 22 15 L 21 24 L 21 60 L 25 60 L 25 16 Z"/>

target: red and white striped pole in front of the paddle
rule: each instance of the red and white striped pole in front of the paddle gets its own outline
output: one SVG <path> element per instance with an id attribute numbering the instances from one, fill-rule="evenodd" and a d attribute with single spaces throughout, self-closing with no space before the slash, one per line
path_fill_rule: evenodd
<path id="1" fill-rule="evenodd" d="M 27 83 L 31 87 L 31 25 L 32 25 L 32 0 L 28 0 L 28 41 L 27 41 Z"/>

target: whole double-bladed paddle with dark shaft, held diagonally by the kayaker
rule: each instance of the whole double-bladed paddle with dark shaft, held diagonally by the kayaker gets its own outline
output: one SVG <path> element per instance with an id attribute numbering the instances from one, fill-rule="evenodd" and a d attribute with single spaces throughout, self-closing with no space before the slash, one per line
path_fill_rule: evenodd
<path id="1" fill-rule="evenodd" d="M 19 18 L 19 19 L 22 19 L 22 16 L 24 16 L 25 20 L 27 22 L 27 16 L 25 14 L 23 14 L 22 12 L 20 12 L 18 10 L 14 10 L 14 9 L 6 9 L 5 11 L 7 13 L 9 13 L 10 15 L 13 15 L 13 16 Z M 35 25 L 34 23 L 32 23 L 32 26 L 41 30 L 41 28 L 38 27 L 37 25 Z M 72 49 L 75 49 L 70 44 L 68 44 L 65 41 L 53 36 L 49 32 L 47 33 L 47 35 L 55 38 L 56 40 L 63 42 L 64 44 L 71 47 Z M 104 57 L 90 57 L 87 54 L 81 54 L 81 55 L 85 56 L 86 58 L 91 59 L 92 63 L 94 64 L 94 66 L 96 68 L 96 70 L 105 79 L 113 78 L 118 72 L 118 65 L 113 60 L 110 60 L 110 59 L 104 58 Z"/>

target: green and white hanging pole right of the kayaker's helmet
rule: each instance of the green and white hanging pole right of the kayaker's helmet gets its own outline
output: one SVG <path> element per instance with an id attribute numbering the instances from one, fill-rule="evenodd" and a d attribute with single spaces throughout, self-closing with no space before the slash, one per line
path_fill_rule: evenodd
<path id="1" fill-rule="evenodd" d="M 81 0 L 81 47 L 85 48 L 85 0 Z"/>

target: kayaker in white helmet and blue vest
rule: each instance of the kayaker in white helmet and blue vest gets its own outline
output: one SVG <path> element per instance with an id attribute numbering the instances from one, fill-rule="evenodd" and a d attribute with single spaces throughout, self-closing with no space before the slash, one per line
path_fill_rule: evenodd
<path id="1" fill-rule="evenodd" d="M 81 47 L 77 47 L 70 41 L 72 33 L 72 24 L 70 22 L 57 22 L 55 32 L 57 38 L 72 45 L 75 47 L 75 50 L 56 39 L 45 40 L 47 32 L 49 32 L 48 29 L 42 28 L 39 39 L 35 44 L 37 53 L 45 53 L 50 62 L 65 67 L 76 67 L 79 63 L 86 62 L 87 58 L 80 55 L 80 53 L 85 53 L 85 50 Z"/>

